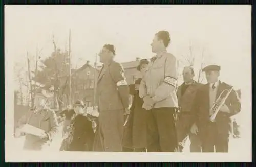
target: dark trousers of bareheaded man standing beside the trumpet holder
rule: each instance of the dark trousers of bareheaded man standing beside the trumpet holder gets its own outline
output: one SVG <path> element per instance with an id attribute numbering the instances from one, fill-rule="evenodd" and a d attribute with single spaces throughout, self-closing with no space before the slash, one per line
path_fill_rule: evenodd
<path id="1" fill-rule="evenodd" d="M 190 112 L 181 112 L 178 114 L 178 120 L 176 122 L 178 142 L 182 142 L 188 135 L 190 140 L 190 152 L 202 152 L 199 136 L 190 132 L 190 128 L 193 124 L 192 121 L 193 117 Z M 179 152 L 182 152 L 182 150 L 183 146 L 179 145 Z"/>

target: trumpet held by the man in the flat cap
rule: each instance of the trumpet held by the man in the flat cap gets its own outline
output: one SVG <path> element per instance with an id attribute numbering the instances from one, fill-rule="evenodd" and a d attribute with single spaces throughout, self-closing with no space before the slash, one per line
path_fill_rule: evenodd
<path id="1" fill-rule="evenodd" d="M 215 118 L 218 114 L 218 112 L 220 111 L 221 107 L 225 104 L 226 99 L 228 98 L 229 94 L 231 93 L 231 91 L 233 90 L 233 86 L 231 86 L 230 89 L 225 89 L 221 92 L 221 94 L 219 95 L 219 97 L 217 98 L 217 100 L 214 102 L 214 105 L 212 105 L 211 109 L 210 109 L 210 113 L 213 113 L 210 116 L 210 121 L 214 122 Z M 222 95 L 224 94 L 224 92 L 227 91 L 227 94 L 222 97 Z"/>

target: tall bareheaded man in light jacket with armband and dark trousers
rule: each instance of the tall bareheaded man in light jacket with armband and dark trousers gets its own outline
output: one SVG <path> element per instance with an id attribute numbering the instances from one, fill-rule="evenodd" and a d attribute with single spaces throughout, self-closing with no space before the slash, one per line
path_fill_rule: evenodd
<path id="1" fill-rule="evenodd" d="M 175 91 L 177 85 L 177 59 L 166 52 L 170 43 L 167 31 L 155 34 L 152 52 L 157 55 L 151 59 L 143 77 L 139 94 L 143 99 L 143 108 L 147 113 L 147 151 L 176 152 L 177 134 L 175 112 L 178 100 Z"/>

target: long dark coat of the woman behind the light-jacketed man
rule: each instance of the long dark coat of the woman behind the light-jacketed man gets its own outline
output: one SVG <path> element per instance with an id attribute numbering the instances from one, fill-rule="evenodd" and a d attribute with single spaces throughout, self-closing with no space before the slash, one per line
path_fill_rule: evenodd
<path id="1" fill-rule="evenodd" d="M 141 78 L 136 81 L 140 83 Z M 129 85 L 130 94 L 134 96 L 130 115 L 124 127 L 123 146 L 127 148 L 146 148 L 146 110 L 142 108 L 143 99 L 135 84 Z"/>

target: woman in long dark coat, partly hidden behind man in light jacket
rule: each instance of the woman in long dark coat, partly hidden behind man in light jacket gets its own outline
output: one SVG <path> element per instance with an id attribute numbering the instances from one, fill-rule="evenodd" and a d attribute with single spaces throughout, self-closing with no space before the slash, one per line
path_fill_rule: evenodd
<path id="1" fill-rule="evenodd" d="M 137 70 L 143 75 L 147 69 L 149 61 L 140 60 Z M 124 125 L 123 151 L 124 152 L 145 152 L 146 151 L 146 110 L 142 108 L 143 100 L 139 97 L 139 85 L 142 78 L 129 85 L 130 94 L 134 96 L 130 108 L 130 114 Z"/>

